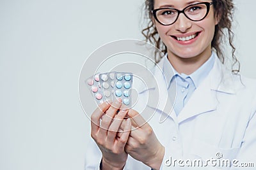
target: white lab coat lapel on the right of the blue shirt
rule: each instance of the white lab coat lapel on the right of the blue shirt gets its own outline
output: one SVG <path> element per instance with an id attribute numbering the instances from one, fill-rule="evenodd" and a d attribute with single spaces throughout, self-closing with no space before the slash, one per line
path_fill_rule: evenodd
<path id="1" fill-rule="evenodd" d="M 216 110 L 218 104 L 216 92 L 223 92 L 227 95 L 235 94 L 232 87 L 232 76 L 220 60 L 216 57 L 214 67 L 209 75 L 193 92 L 188 103 L 178 115 L 179 123 L 202 113 L 209 113 Z"/>

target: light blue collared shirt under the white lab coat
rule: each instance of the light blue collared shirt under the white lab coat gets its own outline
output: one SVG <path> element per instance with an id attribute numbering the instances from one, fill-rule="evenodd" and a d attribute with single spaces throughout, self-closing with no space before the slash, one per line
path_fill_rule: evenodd
<path id="1" fill-rule="evenodd" d="M 166 59 L 164 60 L 163 73 L 166 76 L 169 95 L 173 94 L 170 94 L 170 87 L 175 87 L 176 85 L 176 99 L 173 109 L 176 115 L 178 115 L 188 102 L 193 92 L 196 90 L 196 88 L 198 88 L 200 83 L 211 71 L 214 65 L 215 55 L 212 52 L 211 57 L 209 57 L 209 59 L 202 66 L 196 69 L 195 72 L 189 75 L 178 73 L 173 68 L 172 64 L 170 64 L 169 60 L 167 59 L 167 55 L 165 57 Z"/>

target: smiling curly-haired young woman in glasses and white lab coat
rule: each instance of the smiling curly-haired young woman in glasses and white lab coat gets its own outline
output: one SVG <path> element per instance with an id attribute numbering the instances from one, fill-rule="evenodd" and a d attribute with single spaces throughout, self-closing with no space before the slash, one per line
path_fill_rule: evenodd
<path id="1" fill-rule="evenodd" d="M 149 103 L 146 112 L 156 114 L 145 122 L 138 110 L 123 110 L 120 101 L 100 104 L 92 114 L 95 143 L 86 153 L 86 169 L 239 169 L 249 162 L 256 166 L 256 82 L 240 76 L 239 67 L 229 71 L 223 65 L 225 31 L 233 66 L 237 62 L 230 30 L 232 0 L 147 0 L 146 7 L 150 23 L 143 34 L 166 53 L 156 58 L 164 72 L 154 73 L 159 89 L 170 94 L 177 83 L 173 110 L 163 104 L 156 110 Z M 154 88 L 148 91 L 154 93 Z M 159 123 L 162 114 L 166 119 Z M 131 119 L 124 120 L 125 115 Z M 194 160 L 204 164 L 196 166 Z"/>

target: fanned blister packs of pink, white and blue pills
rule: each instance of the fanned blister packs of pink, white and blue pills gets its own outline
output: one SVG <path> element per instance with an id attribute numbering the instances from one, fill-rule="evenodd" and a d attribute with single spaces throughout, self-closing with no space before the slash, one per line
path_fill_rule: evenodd
<path id="1" fill-rule="evenodd" d="M 95 74 L 86 82 L 97 104 L 120 98 L 127 107 L 130 107 L 132 80 L 132 73 L 109 72 Z"/>

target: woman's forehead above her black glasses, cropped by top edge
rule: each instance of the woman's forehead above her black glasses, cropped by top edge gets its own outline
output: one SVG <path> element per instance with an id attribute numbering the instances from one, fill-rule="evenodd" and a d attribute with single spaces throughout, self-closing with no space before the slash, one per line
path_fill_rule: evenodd
<path id="1" fill-rule="evenodd" d="M 154 8 L 172 7 L 181 9 L 189 4 L 207 2 L 203 0 L 154 0 Z"/>

